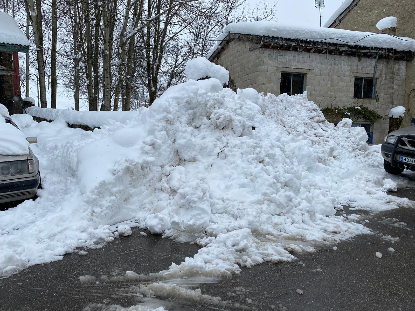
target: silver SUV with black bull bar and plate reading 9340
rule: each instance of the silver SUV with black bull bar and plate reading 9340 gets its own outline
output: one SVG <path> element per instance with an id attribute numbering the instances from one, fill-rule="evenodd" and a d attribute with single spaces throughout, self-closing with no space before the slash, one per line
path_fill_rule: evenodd
<path id="1" fill-rule="evenodd" d="M 381 153 L 386 172 L 399 175 L 405 169 L 415 171 L 415 118 L 412 126 L 393 131 L 385 137 Z"/>

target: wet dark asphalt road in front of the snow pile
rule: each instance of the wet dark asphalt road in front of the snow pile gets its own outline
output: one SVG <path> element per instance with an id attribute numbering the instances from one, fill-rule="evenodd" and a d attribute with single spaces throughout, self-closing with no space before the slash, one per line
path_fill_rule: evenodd
<path id="1" fill-rule="evenodd" d="M 415 201 L 413 189 L 399 190 L 393 195 Z M 129 282 L 79 281 L 81 275 L 100 280 L 101 276 L 117 277 L 129 270 L 149 275 L 198 250 L 197 245 L 178 244 L 161 236 L 140 236 L 140 230 L 136 230 L 132 236 L 117 239 L 102 249 L 88 250 L 86 256 L 68 254 L 61 261 L 35 265 L 0 279 L 0 310 L 115 311 L 112 305 L 128 307 L 141 303 L 161 305 L 170 311 L 415 310 L 415 209 L 366 214 L 366 226 L 373 234 L 339 243 L 336 251 L 332 246 L 322 247 L 313 255 L 298 255 L 294 262 L 243 269 L 241 275 L 232 279 L 178 280 L 182 286 L 196 283 L 196 287 L 189 288 L 219 296 L 222 304 L 210 298 L 177 298 L 171 293 L 137 295 L 140 284 L 160 280 L 151 275 Z M 387 236 L 399 241 L 392 243 Z M 388 251 L 389 247 L 395 251 Z M 377 258 L 376 252 L 381 252 L 382 258 Z M 299 261 L 305 266 L 299 265 Z"/>

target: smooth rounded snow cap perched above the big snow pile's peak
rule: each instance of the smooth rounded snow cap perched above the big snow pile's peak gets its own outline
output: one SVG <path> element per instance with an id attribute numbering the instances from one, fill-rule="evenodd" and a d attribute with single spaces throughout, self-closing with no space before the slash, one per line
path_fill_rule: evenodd
<path id="1" fill-rule="evenodd" d="M 186 77 L 190 80 L 199 80 L 203 78 L 215 78 L 222 84 L 227 84 L 229 80 L 229 71 L 222 66 L 211 63 L 204 57 L 193 58 L 186 64 L 184 70 Z"/>

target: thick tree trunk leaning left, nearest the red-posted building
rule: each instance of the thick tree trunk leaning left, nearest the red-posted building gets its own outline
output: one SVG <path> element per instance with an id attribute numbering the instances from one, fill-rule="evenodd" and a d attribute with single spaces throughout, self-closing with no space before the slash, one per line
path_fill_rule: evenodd
<path id="1" fill-rule="evenodd" d="M 33 0 L 28 0 L 30 6 L 30 15 L 32 17 L 32 29 L 34 42 L 36 45 L 37 68 L 39 72 L 39 92 L 40 92 L 40 106 L 47 108 L 46 102 L 46 82 L 45 69 L 43 59 L 43 27 L 42 27 L 42 9 L 41 0 L 36 0 L 36 10 L 34 8 Z"/>

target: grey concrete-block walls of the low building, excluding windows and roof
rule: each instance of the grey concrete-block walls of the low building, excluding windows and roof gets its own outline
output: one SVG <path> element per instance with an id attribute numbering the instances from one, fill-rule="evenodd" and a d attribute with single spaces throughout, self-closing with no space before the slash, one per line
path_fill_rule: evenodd
<path id="1" fill-rule="evenodd" d="M 376 85 L 380 102 L 376 103 L 374 99 L 353 98 L 354 78 L 372 77 L 374 58 L 262 48 L 249 51 L 250 46 L 254 43 L 234 40 L 218 59 L 218 63 L 229 70 L 237 87 L 253 87 L 264 94 L 279 95 L 281 72 L 304 73 L 308 98 L 321 109 L 331 105 L 362 104 L 384 116 L 384 120 L 372 127 L 373 143 L 382 143 L 387 135 L 389 110 L 404 103 L 405 61 L 378 61 Z"/>

